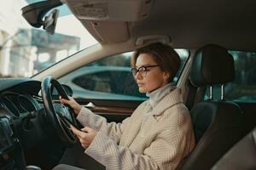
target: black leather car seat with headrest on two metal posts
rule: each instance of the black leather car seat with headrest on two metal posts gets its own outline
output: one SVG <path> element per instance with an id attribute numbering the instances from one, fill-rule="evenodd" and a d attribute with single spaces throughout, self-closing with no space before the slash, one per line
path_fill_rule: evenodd
<path id="1" fill-rule="evenodd" d="M 234 72 L 234 59 L 227 49 L 209 44 L 196 51 L 190 80 L 197 87 L 210 86 L 210 97 L 190 111 L 197 144 L 178 169 L 210 169 L 241 139 L 244 130 L 241 109 L 224 99 L 224 83 L 233 81 Z M 221 87 L 221 99 L 212 99 L 212 85 Z"/>

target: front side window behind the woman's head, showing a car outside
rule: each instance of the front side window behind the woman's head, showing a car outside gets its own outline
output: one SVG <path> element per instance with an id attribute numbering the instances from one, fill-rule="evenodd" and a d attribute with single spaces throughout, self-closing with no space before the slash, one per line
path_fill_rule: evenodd
<path id="1" fill-rule="evenodd" d="M 184 49 L 178 49 L 177 53 L 181 56 L 182 66 L 174 83 L 189 56 L 189 52 Z M 128 52 L 99 59 L 61 77 L 59 82 L 73 88 L 75 98 L 145 100 L 146 95 L 139 93 L 131 74 L 132 54 Z"/>

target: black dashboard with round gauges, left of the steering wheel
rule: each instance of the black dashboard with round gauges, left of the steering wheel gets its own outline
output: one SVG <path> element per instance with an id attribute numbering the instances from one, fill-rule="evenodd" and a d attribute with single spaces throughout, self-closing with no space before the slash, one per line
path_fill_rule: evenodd
<path id="1" fill-rule="evenodd" d="M 0 169 L 23 169 L 24 151 L 37 143 L 41 82 L 0 79 Z"/>

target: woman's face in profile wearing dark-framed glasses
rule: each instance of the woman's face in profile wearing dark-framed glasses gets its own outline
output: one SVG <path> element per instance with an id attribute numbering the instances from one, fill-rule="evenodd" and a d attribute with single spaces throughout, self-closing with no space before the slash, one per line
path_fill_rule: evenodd
<path id="1" fill-rule="evenodd" d="M 158 65 L 152 55 L 140 54 L 137 57 L 136 68 Z M 143 70 L 143 69 L 141 69 Z M 161 71 L 159 66 L 148 67 L 147 71 L 138 71 L 135 79 L 140 93 L 152 92 L 168 83 L 169 74 Z"/>

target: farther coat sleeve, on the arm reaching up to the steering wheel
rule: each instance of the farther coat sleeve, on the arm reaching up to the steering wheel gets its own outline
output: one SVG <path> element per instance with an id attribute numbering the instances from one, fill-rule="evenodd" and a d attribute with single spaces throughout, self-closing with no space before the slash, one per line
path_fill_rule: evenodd
<path id="1" fill-rule="evenodd" d="M 84 126 L 95 129 L 96 131 L 102 131 L 109 138 L 113 139 L 116 143 L 119 143 L 121 134 L 124 127 L 130 122 L 130 117 L 127 117 L 123 122 L 107 122 L 107 119 L 103 116 L 94 114 L 89 109 L 83 107 L 77 116 L 77 120 Z"/>

